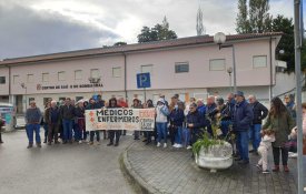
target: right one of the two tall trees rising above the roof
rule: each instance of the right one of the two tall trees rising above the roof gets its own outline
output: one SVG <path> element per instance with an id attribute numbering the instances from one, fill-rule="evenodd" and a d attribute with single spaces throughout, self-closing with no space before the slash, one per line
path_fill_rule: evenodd
<path id="1" fill-rule="evenodd" d="M 272 30 L 269 0 L 249 0 L 249 27 L 251 32 L 263 33 Z"/>

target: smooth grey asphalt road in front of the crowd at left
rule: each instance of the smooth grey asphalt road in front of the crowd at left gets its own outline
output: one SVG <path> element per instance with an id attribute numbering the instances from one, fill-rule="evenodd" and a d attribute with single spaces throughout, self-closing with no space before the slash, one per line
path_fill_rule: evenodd
<path id="1" fill-rule="evenodd" d="M 119 147 L 67 144 L 27 149 L 24 131 L 3 134 L 0 145 L 1 194 L 130 194 L 119 167 L 119 155 L 132 143 L 124 137 Z"/>

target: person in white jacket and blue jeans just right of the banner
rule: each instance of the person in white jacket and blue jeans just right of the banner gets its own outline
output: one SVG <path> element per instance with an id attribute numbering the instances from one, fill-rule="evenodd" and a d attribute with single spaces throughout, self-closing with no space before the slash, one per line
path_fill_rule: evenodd
<path id="1" fill-rule="evenodd" d="M 161 145 L 161 137 L 164 139 L 164 147 L 167 147 L 167 123 L 169 109 L 167 108 L 165 100 L 159 99 L 156 106 L 156 127 L 157 127 L 157 146 Z"/>

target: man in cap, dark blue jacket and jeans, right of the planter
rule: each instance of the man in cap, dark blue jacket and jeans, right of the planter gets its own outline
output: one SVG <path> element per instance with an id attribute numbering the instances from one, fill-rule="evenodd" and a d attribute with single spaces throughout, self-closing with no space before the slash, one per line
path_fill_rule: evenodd
<path id="1" fill-rule="evenodd" d="M 239 157 L 239 164 L 248 164 L 248 130 L 253 121 L 251 106 L 246 102 L 244 92 L 237 91 L 235 94 L 236 105 L 234 111 L 233 130 L 237 134 L 237 145 Z"/>

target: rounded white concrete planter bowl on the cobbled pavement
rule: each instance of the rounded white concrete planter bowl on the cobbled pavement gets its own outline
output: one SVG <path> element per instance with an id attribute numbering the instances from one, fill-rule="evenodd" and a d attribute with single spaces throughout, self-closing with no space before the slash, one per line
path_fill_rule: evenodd
<path id="1" fill-rule="evenodd" d="M 209 169 L 210 172 L 225 170 L 233 165 L 233 147 L 228 142 L 213 145 L 208 149 L 201 147 L 196 154 L 196 163 L 199 167 Z"/>

